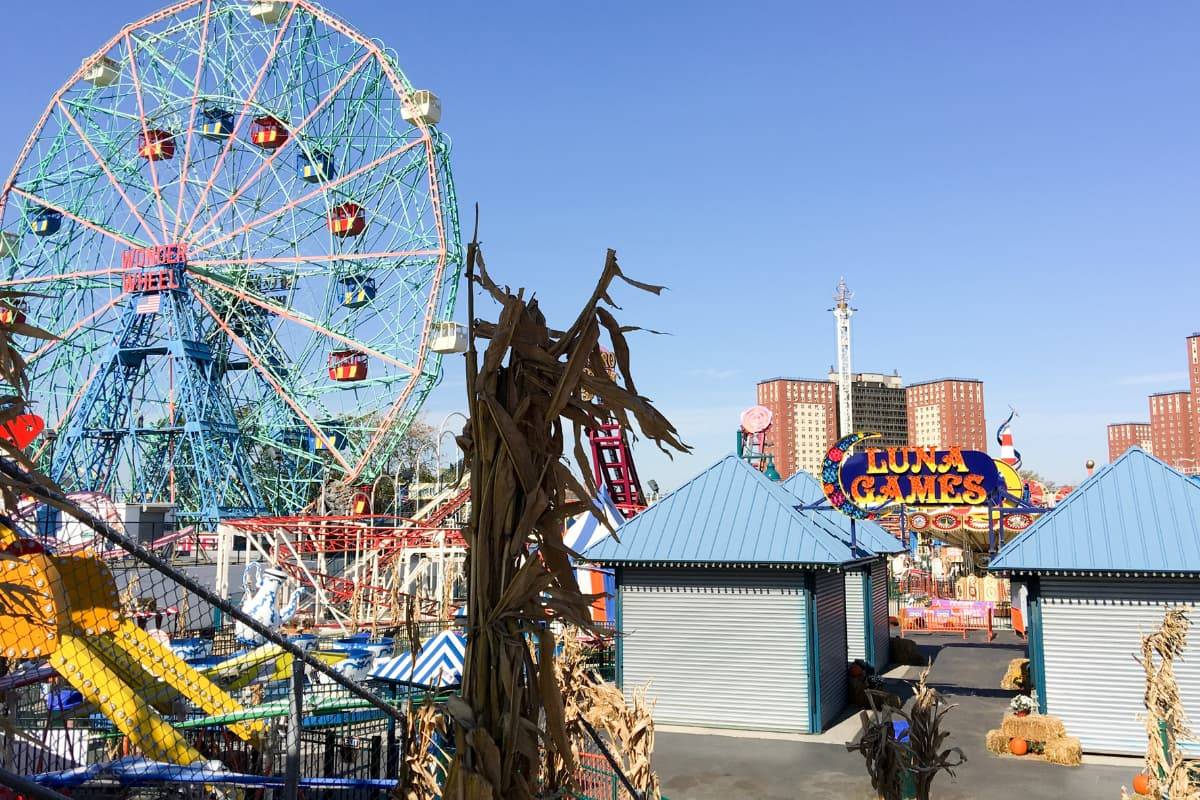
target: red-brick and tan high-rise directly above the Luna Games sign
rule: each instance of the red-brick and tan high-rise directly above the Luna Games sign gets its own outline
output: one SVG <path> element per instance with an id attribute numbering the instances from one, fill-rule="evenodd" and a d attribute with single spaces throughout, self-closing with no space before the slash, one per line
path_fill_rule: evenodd
<path id="1" fill-rule="evenodd" d="M 958 446 L 988 452 L 982 380 L 925 380 L 908 386 L 905 395 L 907 444 L 922 447 Z"/>

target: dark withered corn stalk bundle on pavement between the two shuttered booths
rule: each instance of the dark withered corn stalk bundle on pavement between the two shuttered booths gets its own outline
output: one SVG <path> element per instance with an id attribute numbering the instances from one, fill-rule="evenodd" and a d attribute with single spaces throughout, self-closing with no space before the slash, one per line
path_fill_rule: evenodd
<path id="1" fill-rule="evenodd" d="M 943 747 L 950 734 L 942 720 L 954 706 L 926 685 L 928 676 L 929 667 L 920 673 L 917 694 L 907 710 L 884 703 L 886 693 L 869 691 L 871 710 L 859 715 L 863 734 L 857 742 L 846 745 L 847 750 L 863 754 L 871 786 L 883 800 L 900 800 L 906 776 L 911 777 L 917 800 L 929 800 L 937 774 L 953 776 L 967 760 L 960 747 Z M 907 744 L 895 739 L 892 724 L 895 720 L 908 723 Z"/>

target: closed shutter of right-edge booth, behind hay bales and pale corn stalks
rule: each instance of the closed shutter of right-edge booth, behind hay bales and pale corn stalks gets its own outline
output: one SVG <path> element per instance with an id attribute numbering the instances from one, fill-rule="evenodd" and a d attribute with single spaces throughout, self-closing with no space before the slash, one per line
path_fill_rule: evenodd
<path id="1" fill-rule="evenodd" d="M 1146 675 L 1134 656 L 1169 608 L 1194 609 L 1175 663 L 1184 711 L 1200 721 L 1200 582 L 1042 579 L 1046 710 L 1091 753 L 1141 756 Z M 1200 746 L 1186 747 L 1200 756 Z"/>

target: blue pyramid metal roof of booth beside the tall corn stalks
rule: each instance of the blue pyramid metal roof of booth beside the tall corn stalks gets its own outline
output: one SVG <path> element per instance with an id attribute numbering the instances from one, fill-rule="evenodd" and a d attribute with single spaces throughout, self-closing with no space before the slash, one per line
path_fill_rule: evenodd
<path id="1" fill-rule="evenodd" d="M 856 555 L 828 524 L 737 456 L 726 456 L 586 553 L 641 566 L 725 564 L 840 566 Z"/>

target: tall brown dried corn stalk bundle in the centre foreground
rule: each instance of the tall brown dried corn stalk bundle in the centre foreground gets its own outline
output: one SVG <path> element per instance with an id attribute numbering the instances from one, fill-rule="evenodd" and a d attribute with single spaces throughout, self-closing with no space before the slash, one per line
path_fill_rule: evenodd
<path id="1" fill-rule="evenodd" d="M 487 276 L 476 242 L 467 249 L 468 278 L 500 305 L 499 320 L 474 318 L 467 353 L 470 423 L 458 445 L 470 463 L 470 521 L 463 531 L 469 579 L 467 660 L 462 698 L 448 706 L 457 748 L 446 777 L 448 800 L 526 800 L 535 793 L 540 750 L 575 758 L 566 736 L 563 696 L 553 663 L 550 622 L 590 628 L 588 599 L 576 583 L 564 521 L 589 509 L 595 495 L 583 450 L 584 429 L 616 420 L 665 452 L 686 452 L 674 427 L 637 395 L 622 326 L 605 308 L 618 278 L 608 251 L 592 297 L 565 331 L 551 330 L 536 299 L 514 294 Z M 607 335 L 618 379 L 601 357 Z M 487 339 L 480 354 L 476 342 Z M 590 373 L 590 374 L 589 374 Z M 583 392 L 594 396 L 583 399 Z M 566 426 L 583 483 L 564 463 Z M 532 554 L 536 551 L 536 554 Z M 534 657 L 533 649 L 538 656 Z"/>

